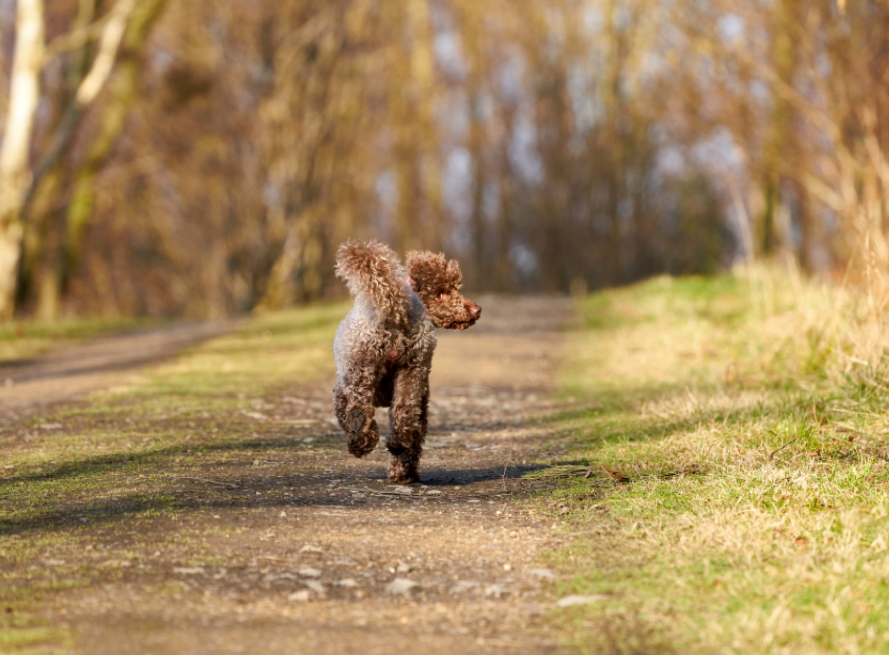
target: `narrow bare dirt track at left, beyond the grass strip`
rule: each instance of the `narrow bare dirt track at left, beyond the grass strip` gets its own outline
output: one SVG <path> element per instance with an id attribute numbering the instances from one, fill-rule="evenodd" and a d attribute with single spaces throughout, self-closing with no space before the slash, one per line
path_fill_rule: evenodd
<path id="1" fill-rule="evenodd" d="M 35 359 L 0 364 L 0 425 L 110 387 L 126 371 L 157 363 L 235 325 L 235 321 L 211 321 L 132 331 L 54 350 Z"/>

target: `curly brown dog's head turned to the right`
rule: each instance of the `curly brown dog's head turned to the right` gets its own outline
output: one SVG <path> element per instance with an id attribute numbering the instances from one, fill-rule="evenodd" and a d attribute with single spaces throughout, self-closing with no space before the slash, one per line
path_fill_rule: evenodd
<path id="1" fill-rule="evenodd" d="M 407 273 L 436 327 L 466 330 L 482 315 L 482 308 L 460 292 L 463 274 L 455 260 L 432 252 L 408 252 Z"/>

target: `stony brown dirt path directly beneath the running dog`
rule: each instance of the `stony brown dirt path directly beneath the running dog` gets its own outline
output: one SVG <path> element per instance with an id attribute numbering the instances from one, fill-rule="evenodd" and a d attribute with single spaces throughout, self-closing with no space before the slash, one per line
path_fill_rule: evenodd
<path id="1" fill-rule="evenodd" d="M 557 538 L 514 500 L 533 491 L 520 476 L 545 428 L 529 419 L 552 409 L 570 303 L 482 300 L 472 330 L 439 332 L 419 484 L 389 485 L 382 448 L 348 456 L 332 380 L 255 401 L 256 450 L 183 477 L 178 515 L 124 520 L 109 500 L 91 552 L 43 555 L 108 571 L 47 619 L 91 655 L 557 652 L 538 603 Z"/>

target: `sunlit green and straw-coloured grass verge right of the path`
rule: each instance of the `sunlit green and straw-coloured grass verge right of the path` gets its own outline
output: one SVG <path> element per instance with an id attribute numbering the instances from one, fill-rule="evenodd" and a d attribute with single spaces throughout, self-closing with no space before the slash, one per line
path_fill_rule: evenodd
<path id="1" fill-rule="evenodd" d="M 881 316 L 765 270 L 581 303 L 540 499 L 574 646 L 889 652 Z"/>

